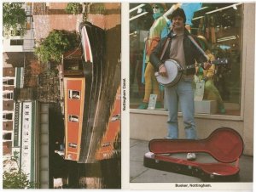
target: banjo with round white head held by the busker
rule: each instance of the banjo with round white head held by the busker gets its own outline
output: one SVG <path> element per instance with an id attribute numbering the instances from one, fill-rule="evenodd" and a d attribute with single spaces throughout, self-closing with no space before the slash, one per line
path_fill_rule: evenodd
<path id="1" fill-rule="evenodd" d="M 227 64 L 228 59 L 216 59 L 211 61 L 211 63 L 215 65 Z M 185 67 L 182 67 L 174 59 L 167 59 L 164 65 L 166 66 L 167 76 L 160 76 L 159 71 L 155 72 L 154 76 L 156 77 L 156 80 L 160 83 L 160 85 L 169 88 L 180 81 L 181 77 L 183 76 L 183 71 L 195 68 L 195 65 L 187 65 Z M 197 64 L 197 66 L 202 65 L 203 63 Z"/>

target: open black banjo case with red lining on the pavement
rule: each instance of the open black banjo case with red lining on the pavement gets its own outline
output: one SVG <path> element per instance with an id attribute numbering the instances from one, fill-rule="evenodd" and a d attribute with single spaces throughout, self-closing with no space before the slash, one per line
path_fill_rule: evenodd
<path id="1" fill-rule="evenodd" d="M 222 127 L 204 139 L 153 139 L 144 155 L 144 167 L 177 172 L 210 182 L 230 182 L 239 179 L 239 158 L 243 141 L 235 130 Z M 174 158 L 176 153 L 207 153 L 216 161 L 210 163 Z M 170 155 L 166 155 L 170 154 Z"/>

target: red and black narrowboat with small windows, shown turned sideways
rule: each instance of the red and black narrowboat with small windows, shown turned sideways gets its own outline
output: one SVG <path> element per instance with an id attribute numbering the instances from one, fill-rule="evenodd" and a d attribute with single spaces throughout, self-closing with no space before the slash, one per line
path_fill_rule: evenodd
<path id="1" fill-rule="evenodd" d="M 64 159 L 86 162 L 102 87 L 104 32 L 96 25 L 79 25 L 81 48 L 62 60 L 64 94 Z"/>

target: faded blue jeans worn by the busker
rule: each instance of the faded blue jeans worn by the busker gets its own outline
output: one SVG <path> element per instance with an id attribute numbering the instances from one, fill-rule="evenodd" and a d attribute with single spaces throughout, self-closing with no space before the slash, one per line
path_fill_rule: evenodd
<path id="1" fill-rule="evenodd" d="M 181 79 L 174 87 L 165 88 L 165 97 L 169 110 L 167 121 L 168 135 L 166 138 L 178 138 L 177 110 L 179 103 L 183 113 L 183 124 L 186 138 L 196 139 L 197 136 L 194 118 L 195 106 L 192 80 Z"/>

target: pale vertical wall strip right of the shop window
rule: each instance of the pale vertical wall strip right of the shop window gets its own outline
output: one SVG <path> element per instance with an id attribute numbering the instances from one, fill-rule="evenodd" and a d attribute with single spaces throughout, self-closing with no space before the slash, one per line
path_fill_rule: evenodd
<path id="1" fill-rule="evenodd" d="M 254 54 L 255 54 L 255 3 L 245 3 L 243 35 L 244 123 L 243 140 L 245 154 L 253 154 L 253 106 L 254 106 Z"/>

